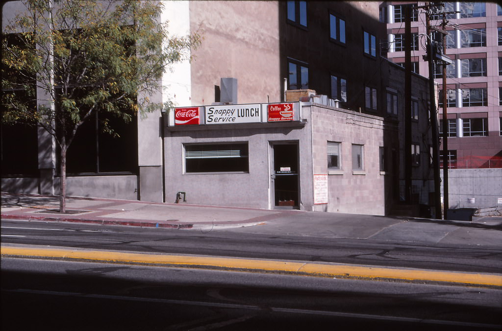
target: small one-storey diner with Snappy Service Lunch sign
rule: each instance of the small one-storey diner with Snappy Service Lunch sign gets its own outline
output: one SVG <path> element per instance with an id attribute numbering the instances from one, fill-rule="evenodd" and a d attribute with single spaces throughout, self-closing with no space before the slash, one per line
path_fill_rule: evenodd
<path id="1" fill-rule="evenodd" d="M 329 99 L 321 103 L 319 96 L 307 99 L 179 107 L 166 114 L 166 197 L 384 215 L 383 118 L 335 107 Z"/>

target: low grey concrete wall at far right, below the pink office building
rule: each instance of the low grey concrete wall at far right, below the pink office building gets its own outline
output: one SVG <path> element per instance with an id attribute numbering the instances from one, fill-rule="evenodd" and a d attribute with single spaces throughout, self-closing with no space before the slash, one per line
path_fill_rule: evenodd
<path id="1" fill-rule="evenodd" d="M 502 169 L 450 169 L 448 192 L 450 208 L 495 207 L 497 198 L 502 198 Z M 441 194 L 444 194 L 443 185 Z M 469 200 L 472 198 L 474 203 Z"/>

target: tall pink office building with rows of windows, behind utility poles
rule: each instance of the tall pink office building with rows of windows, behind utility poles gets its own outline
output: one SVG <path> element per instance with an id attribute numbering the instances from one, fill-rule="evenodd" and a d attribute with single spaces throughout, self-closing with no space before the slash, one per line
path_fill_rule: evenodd
<path id="1" fill-rule="evenodd" d="M 412 6 L 413 70 L 428 77 L 425 3 L 384 2 L 381 21 L 387 23 L 388 58 L 405 62 L 405 9 Z M 450 168 L 502 168 L 502 9 L 490 2 L 448 2 L 447 66 L 448 155 Z M 454 13 L 457 12 L 457 13 Z M 442 29 L 442 16 L 431 16 Z M 439 125 L 442 132 L 442 66 L 435 68 L 439 87 Z M 444 152 L 441 147 L 441 154 Z"/>

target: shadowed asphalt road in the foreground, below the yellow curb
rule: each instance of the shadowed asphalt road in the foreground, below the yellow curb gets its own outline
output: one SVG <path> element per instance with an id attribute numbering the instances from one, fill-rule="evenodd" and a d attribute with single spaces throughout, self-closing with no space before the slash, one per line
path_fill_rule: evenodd
<path id="1" fill-rule="evenodd" d="M 3 330 L 484 330 L 498 289 L 2 259 Z"/>

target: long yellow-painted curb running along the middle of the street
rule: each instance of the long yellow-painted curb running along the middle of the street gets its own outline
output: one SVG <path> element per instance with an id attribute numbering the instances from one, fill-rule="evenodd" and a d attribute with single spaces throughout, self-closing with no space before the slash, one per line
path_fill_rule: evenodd
<path id="1" fill-rule="evenodd" d="M 165 254 L 122 253 L 110 251 L 51 249 L 47 247 L 1 248 L 2 256 L 59 258 L 70 260 L 102 261 L 111 263 L 169 265 L 178 267 L 205 267 L 245 271 L 267 271 L 286 274 L 314 275 L 358 279 L 385 279 L 401 281 L 428 281 L 502 287 L 502 275 L 468 272 L 435 271 L 423 269 L 397 269 L 364 267 L 334 263 L 288 262 L 208 256 L 181 256 Z"/>

